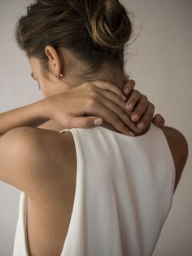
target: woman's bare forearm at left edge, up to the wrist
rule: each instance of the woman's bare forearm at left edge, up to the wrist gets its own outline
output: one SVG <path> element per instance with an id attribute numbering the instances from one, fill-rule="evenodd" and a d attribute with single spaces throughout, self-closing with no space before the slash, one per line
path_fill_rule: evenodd
<path id="1" fill-rule="evenodd" d="M 43 116 L 42 108 L 44 108 L 44 101 L 39 100 L 33 104 L 0 113 L 0 135 L 16 127 L 37 127 L 49 121 L 50 118 Z"/>

